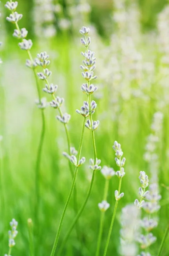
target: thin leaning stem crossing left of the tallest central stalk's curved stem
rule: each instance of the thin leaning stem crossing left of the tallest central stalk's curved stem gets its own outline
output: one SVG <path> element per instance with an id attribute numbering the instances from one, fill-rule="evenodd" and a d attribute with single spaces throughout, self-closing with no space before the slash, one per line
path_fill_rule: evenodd
<path id="1" fill-rule="evenodd" d="M 83 126 L 82 126 L 82 134 L 81 134 L 79 151 L 78 151 L 78 156 L 77 156 L 77 163 L 79 163 L 80 155 L 81 155 L 81 151 L 82 151 L 82 144 L 83 144 L 83 138 L 84 138 L 84 132 L 85 132 L 85 122 L 86 122 L 86 117 L 84 118 L 84 122 L 83 122 Z M 60 235 L 60 232 L 61 232 L 62 222 L 64 220 L 65 213 L 66 213 L 66 210 L 67 210 L 67 207 L 68 207 L 71 195 L 73 193 L 73 190 L 74 190 L 74 187 L 75 187 L 75 184 L 76 184 L 76 177 L 77 177 L 78 169 L 79 169 L 79 167 L 76 166 L 75 174 L 74 174 L 74 177 L 73 177 L 72 186 L 71 186 L 70 193 L 68 195 L 68 199 L 66 201 L 65 207 L 64 207 L 63 212 L 62 212 L 62 216 L 61 216 L 61 219 L 60 219 L 60 222 L 59 222 L 59 227 L 58 227 L 58 230 L 57 230 L 57 233 L 56 233 L 54 245 L 53 245 L 53 248 L 52 248 L 52 251 L 51 251 L 51 256 L 54 256 L 55 251 L 56 251 L 59 235 Z"/>

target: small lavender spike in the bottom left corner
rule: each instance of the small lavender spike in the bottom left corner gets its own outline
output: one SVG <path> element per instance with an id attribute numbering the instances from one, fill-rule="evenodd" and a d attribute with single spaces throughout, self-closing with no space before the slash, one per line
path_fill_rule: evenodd
<path id="1" fill-rule="evenodd" d="M 9 254 L 11 253 L 11 248 L 14 247 L 14 245 L 15 245 L 14 239 L 16 238 L 17 233 L 18 233 L 18 231 L 17 231 L 17 225 L 18 225 L 18 222 L 15 221 L 15 219 L 13 218 L 12 221 L 10 222 L 11 230 L 8 231 L 9 253 L 8 253 L 8 254 L 5 254 L 5 256 L 10 256 Z"/>

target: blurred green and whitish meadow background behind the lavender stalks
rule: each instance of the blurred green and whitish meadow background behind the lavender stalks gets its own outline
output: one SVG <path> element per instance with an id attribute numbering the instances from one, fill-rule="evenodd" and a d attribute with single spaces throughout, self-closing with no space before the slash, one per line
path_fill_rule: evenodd
<path id="1" fill-rule="evenodd" d="M 112 149 L 117 140 L 126 157 L 126 175 L 121 188 L 124 198 L 118 205 L 107 255 L 120 255 L 121 209 L 138 198 L 139 172 L 145 171 L 150 177 L 153 173 L 151 163 L 144 159 L 146 138 L 152 133 L 154 113 L 163 113 L 158 134 L 160 140 L 155 148 L 162 199 L 158 212 L 159 224 L 153 230 L 157 241 L 150 247 L 152 255 L 156 255 L 169 220 L 169 191 L 165 187 L 169 186 L 169 61 L 163 61 L 163 57 L 168 60 L 168 51 L 164 47 L 164 43 L 167 45 L 169 42 L 167 11 L 162 14 L 166 26 L 158 26 L 159 13 L 167 10 L 169 3 L 166 0 L 116 2 L 122 3 L 123 7 L 119 8 L 111 0 L 19 0 L 17 12 L 23 14 L 20 28 L 25 27 L 28 30 L 27 38 L 33 41 L 31 53 L 34 58 L 42 51 L 50 55 L 49 69 L 52 76 L 49 80 L 58 84 L 57 93 L 65 99 L 63 111 L 71 114 L 68 128 L 71 144 L 76 149 L 79 147 L 83 122 L 83 118 L 76 114 L 76 109 L 80 109 L 85 100 L 81 91 L 84 79 L 79 68 L 83 59 L 80 52 L 84 49 L 80 43 L 79 29 L 83 25 L 91 29 L 90 49 L 96 53 L 95 74 L 98 76 L 93 83 L 99 87 L 96 95 L 92 96 L 98 104 L 93 118 L 100 121 L 95 133 L 97 155 L 101 159 L 101 166 L 111 166 L 117 171 Z M 25 67 L 26 52 L 18 47 L 17 39 L 12 37 L 14 26 L 6 21 L 8 10 L 4 4 L 5 1 L 1 1 L 0 41 L 3 47 L 0 58 L 3 64 L 0 65 L 0 134 L 3 140 L 0 141 L 0 254 L 4 255 L 8 251 L 8 223 L 15 218 L 19 223 L 19 233 L 12 256 L 28 256 L 27 220 L 32 218 L 34 222 L 35 163 L 41 116 L 34 104 L 37 99 L 34 75 Z M 121 12 L 127 13 L 125 20 L 123 15 L 115 20 L 115 14 Z M 161 43 L 161 38 L 166 40 Z M 161 46 L 165 49 L 161 50 Z M 45 83 L 40 81 L 40 85 L 43 88 Z M 43 94 L 48 101 L 51 100 L 50 96 Z M 45 142 L 39 177 L 40 232 L 38 252 L 35 253 L 38 256 L 51 253 L 59 218 L 72 182 L 68 161 L 62 156 L 63 151 L 68 151 L 64 127 L 56 120 L 56 111 L 50 107 L 45 109 L 45 119 Z M 91 178 L 88 165 L 89 159 L 93 158 L 93 147 L 87 129 L 82 156 L 86 157 L 86 163 L 79 169 L 77 178 L 78 208 L 85 199 Z M 98 203 L 103 197 L 104 181 L 98 172 L 92 194 L 79 220 L 80 238 L 77 239 L 76 231 L 73 230 L 63 255 L 95 254 L 100 218 Z M 106 212 L 104 222 L 101 255 L 110 227 L 115 204 L 114 191 L 117 188 L 118 178 L 113 177 L 107 199 L 110 209 Z M 59 245 L 74 216 L 71 200 Z M 162 255 L 169 255 L 167 242 Z"/>

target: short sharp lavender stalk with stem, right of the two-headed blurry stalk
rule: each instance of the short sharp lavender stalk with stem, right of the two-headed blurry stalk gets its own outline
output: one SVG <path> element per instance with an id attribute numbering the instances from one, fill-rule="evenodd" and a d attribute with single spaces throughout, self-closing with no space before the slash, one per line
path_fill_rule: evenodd
<path id="1" fill-rule="evenodd" d="M 114 211 L 113 211 L 112 221 L 110 224 L 109 233 L 107 236 L 106 246 L 104 249 L 104 256 L 106 256 L 106 254 L 107 254 L 107 249 L 108 249 L 108 245 L 109 245 L 109 241 L 110 241 L 110 236 L 112 233 L 113 223 L 115 220 L 115 214 L 116 214 L 117 207 L 118 207 L 118 201 L 124 196 L 124 193 L 123 192 L 120 193 L 120 191 L 121 191 L 121 180 L 122 180 L 122 177 L 124 177 L 124 175 L 125 175 L 123 166 L 125 164 L 126 159 L 125 159 L 125 157 L 123 157 L 123 159 L 121 160 L 123 151 L 121 150 L 121 145 L 117 141 L 114 142 L 113 149 L 114 149 L 115 155 L 116 155 L 116 157 L 115 157 L 116 165 L 120 167 L 120 170 L 115 173 L 117 175 L 117 177 L 119 178 L 119 185 L 118 185 L 118 190 L 115 190 L 116 202 L 115 202 L 115 207 L 114 207 Z"/>

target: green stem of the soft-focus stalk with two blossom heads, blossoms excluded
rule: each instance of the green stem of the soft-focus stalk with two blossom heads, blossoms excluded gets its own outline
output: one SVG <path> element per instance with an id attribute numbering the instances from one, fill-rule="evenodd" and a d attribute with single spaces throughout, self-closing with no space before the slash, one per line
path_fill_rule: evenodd
<path id="1" fill-rule="evenodd" d="M 106 179 L 105 185 L 104 185 L 104 196 L 103 196 L 103 200 L 105 200 L 105 201 L 107 200 L 108 189 L 109 189 L 109 180 Z M 97 249 L 96 249 L 96 256 L 99 256 L 99 252 L 100 252 L 101 237 L 102 237 L 102 233 L 103 233 L 103 224 L 104 224 L 104 215 L 105 215 L 105 212 L 101 212 L 99 236 L 98 236 Z"/>

